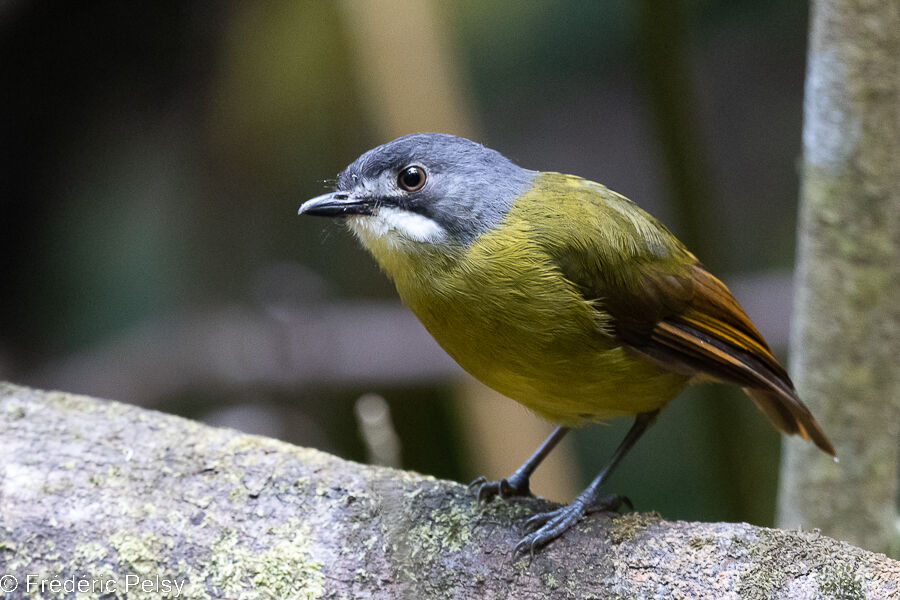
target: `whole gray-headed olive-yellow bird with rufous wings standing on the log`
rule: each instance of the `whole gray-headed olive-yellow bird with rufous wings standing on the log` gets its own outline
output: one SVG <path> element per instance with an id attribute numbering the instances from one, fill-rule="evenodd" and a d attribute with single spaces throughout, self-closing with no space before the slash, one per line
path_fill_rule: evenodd
<path id="1" fill-rule="evenodd" d="M 529 170 L 445 133 L 415 133 L 347 166 L 301 215 L 338 218 L 438 344 L 482 383 L 557 427 L 479 502 L 531 494 L 572 428 L 632 417 L 568 505 L 524 524 L 532 554 L 584 515 L 618 510 L 603 485 L 686 387 L 732 383 L 786 434 L 834 447 L 728 288 L 662 223 L 593 181 Z"/>

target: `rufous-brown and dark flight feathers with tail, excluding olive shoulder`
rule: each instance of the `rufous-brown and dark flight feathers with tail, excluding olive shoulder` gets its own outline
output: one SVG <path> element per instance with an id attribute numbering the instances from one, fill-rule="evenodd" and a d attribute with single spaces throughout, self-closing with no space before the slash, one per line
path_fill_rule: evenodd
<path id="1" fill-rule="evenodd" d="M 797 396 L 784 368 L 772 355 L 724 283 L 691 255 L 683 274 L 645 263 L 630 285 L 592 277 L 580 287 L 613 319 L 613 335 L 646 356 L 685 373 L 702 373 L 737 383 L 776 429 L 799 434 L 834 456 L 834 447 Z"/>

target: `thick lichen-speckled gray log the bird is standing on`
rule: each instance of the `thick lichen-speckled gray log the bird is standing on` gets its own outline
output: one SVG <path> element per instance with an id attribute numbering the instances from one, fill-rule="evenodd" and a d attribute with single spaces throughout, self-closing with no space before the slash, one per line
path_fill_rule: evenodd
<path id="1" fill-rule="evenodd" d="M 456 483 L 86 396 L 0 384 L 0 439 L 7 599 L 900 594 L 900 563 L 817 532 L 654 514 L 515 558 L 547 503 L 478 508 Z"/>

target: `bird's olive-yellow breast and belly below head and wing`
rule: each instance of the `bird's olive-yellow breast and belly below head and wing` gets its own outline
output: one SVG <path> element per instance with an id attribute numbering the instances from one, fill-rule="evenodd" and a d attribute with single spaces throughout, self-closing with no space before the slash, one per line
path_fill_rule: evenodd
<path id="1" fill-rule="evenodd" d="M 602 314 L 547 257 L 517 252 L 505 260 L 486 234 L 467 253 L 483 268 L 441 271 L 426 282 L 420 266 L 417 277 L 395 283 L 460 366 L 551 421 L 577 425 L 654 410 L 685 387 L 689 377 L 604 334 Z"/>

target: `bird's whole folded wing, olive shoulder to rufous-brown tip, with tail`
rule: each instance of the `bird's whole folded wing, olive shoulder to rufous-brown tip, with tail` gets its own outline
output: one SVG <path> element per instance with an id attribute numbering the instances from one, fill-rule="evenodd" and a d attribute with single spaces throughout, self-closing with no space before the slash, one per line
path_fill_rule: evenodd
<path id="1" fill-rule="evenodd" d="M 603 333 L 668 368 L 741 385 L 777 429 L 812 439 L 834 455 L 787 372 L 725 284 L 653 217 L 601 191 L 585 209 L 602 212 L 616 203 L 602 217 L 626 214 L 632 227 L 619 223 L 616 239 L 576 227 L 571 243 L 554 254 L 563 275 L 608 315 Z"/>

